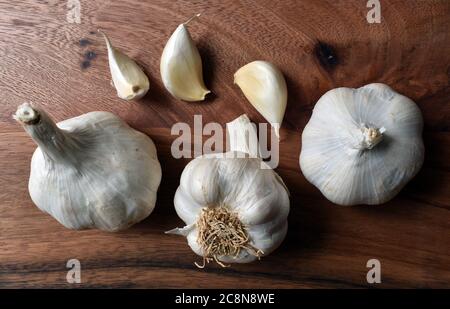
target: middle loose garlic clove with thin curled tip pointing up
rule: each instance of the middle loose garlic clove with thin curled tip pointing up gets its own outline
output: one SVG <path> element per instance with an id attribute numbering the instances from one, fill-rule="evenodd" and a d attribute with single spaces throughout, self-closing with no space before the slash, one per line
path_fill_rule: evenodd
<path id="1" fill-rule="evenodd" d="M 203 82 L 202 59 L 187 29 L 187 22 L 178 26 L 164 47 L 161 56 L 161 78 L 166 89 L 184 101 L 202 101 L 210 93 Z"/>

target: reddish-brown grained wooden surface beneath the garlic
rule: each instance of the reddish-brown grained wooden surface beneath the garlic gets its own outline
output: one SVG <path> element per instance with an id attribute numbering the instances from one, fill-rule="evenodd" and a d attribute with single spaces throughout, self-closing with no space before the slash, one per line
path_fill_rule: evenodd
<path id="1" fill-rule="evenodd" d="M 450 287 L 450 1 L 381 0 L 382 20 L 366 21 L 367 1 L 87 1 L 81 23 L 67 1 L 0 1 L 0 287 L 334 288 Z M 159 61 L 178 24 L 189 26 L 213 94 L 185 103 L 162 86 Z M 149 94 L 125 102 L 110 86 L 98 28 L 137 59 Z M 183 237 L 173 196 L 188 160 L 170 154 L 171 126 L 224 125 L 242 113 L 264 119 L 233 85 L 256 59 L 286 76 L 289 101 L 276 171 L 291 191 L 289 231 L 260 262 L 221 268 L 200 261 Z M 301 132 L 327 90 L 383 82 L 416 101 L 425 120 L 421 172 L 391 202 L 339 207 L 300 172 Z M 27 190 L 35 144 L 11 117 L 33 102 L 60 121 L 112 111 L 156 143 L 163 180 L 153 214 L 120 233 L 71 231 L 40 212 Z M 66 282 L 66 262 L 81 262 L 81 284 Z M 366 262 L 381 262 L 369 285 Z"/>

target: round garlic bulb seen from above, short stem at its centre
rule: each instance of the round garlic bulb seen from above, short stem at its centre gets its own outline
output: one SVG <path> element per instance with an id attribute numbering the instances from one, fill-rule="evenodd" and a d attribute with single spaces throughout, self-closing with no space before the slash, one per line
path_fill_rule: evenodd
<path id="1" fill-rule="evenodd" d="M 314 107 L 302 135 L 300 167 L 335 204 L 381 204 L 424 160 L 422 115 L 384 84 L 337 88 Z"/>

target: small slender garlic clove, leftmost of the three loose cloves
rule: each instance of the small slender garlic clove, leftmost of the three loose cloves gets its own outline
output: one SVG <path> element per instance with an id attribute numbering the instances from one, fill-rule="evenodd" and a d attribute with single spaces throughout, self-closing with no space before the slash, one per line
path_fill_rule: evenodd
<path id="1" fill-rule="evenodd" d="M 145 96 L 150 87 L 147 75 L 133 59 L 115 49 L 103 31 L 99 32 L 105 38 L 109 69 L 119 98 L 133 100 Z"/>

